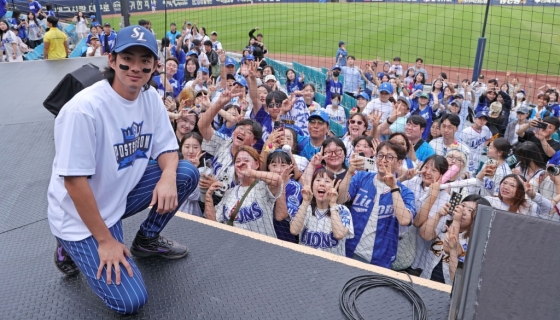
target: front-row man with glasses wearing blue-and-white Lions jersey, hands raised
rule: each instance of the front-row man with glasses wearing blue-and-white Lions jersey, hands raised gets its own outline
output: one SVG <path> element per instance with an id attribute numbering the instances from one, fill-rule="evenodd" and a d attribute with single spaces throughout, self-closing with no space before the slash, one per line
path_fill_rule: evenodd
<path id="1" fill-rule="evenodd" d="M 410 225 L 416 215 L 414 194 L 395 178 L 405 156 L 402 146 L 382 142 L 374 173 L 364 171 L 364 159 L 352 155 L 338 189 L 338 203 L 352 201 L 354 238 L 346 240 L 347 257 L 385 268 L 395 261 L 399 226 Z"/>

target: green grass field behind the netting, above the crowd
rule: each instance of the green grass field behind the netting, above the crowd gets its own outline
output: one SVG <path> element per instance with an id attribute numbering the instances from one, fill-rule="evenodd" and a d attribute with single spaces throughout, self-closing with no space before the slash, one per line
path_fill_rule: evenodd
<path id="1" fill-rule="evenodd" d="M 530 74 L 560 73 L 560 20 L 557 7 L 492 6 L 488 18 L 484 68 Z M 310 56 L 334 56 L 344 40 L 359 59 L 404 62 L 423 57 L 425 63 L 472 67 L 481 34 L 484 6 L 406 3 L 307 3 L 208 7 L 168 12 L 167 26 L 184 20 L 198 22 L 208 33 L 216 30 L 229 51 L 241 51 L 248 32 L 259 26 L 269 51 Z M 558 10 L 560 13 L 560 10 Z M 164 36 L 165 16 L 134 14 L 152 21 Z M 104 21 L 118 25 L 120 18 Z M 168 29 L 168 27 L 167 27 Z"/>

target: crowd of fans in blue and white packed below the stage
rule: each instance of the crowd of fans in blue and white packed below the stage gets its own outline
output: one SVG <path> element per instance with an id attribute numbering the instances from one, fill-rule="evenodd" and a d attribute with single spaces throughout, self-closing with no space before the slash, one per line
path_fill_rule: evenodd
<path id="1" fill-rule="evenodd" d="M 201 173 L 181 211 L 447 284 L 478 205 L 560 220 L 556 88 L 509 73 L 431 80 L 421 58 L 361 68 L 340 42 L 321 105 L 304 74 L 267 64 L 258 31 L 229 48 L 239 62 L 196 23 L 172 23 L 161 41 L 151 85 Z M 105 24 L 83 37 L 98 56 L 116 35 Z"/>

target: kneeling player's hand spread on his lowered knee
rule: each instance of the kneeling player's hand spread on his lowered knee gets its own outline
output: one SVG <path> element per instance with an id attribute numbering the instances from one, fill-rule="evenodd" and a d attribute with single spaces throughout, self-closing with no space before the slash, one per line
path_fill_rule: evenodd
<path id="1" fill-rule="evenodd" d="M 130 251 L 128 248 L 118 242 L 115 239 L 111 239 L 107 242 L 100 242 L 99 248 L 97 249 L 99 254 L 99 268 L 97 269 L 97 279 L 101 278 L 101 273 L 103 268 L 105 268 L 107 284 L 113 282 L 111 278 L 111 271 L 115 269 L 115 283 L 117 285 L 121 284 L 121 264 L 126 269 L 128 276 L 132 277 L 134 273 L 132 272 L 132 267 L 130 263 L 126 260 L 126 257 L 130 257 Z"/>

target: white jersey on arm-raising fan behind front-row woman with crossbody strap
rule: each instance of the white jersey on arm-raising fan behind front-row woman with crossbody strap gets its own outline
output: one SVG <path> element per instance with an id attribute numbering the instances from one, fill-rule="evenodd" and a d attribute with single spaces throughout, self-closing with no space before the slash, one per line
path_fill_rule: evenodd
<path id="1" fill-rule="evenodd" d="M 231 154 L 231 146 L 233 140 L 217 131 L 210 141 L 202 141 L 202 150 L 213 155 L 212 158 L 212 174 L 218 181 L 222 183 L 222 188 L 216 192 L 225 192 L 233 185 L 234 169 L 233 154 Z"/>

